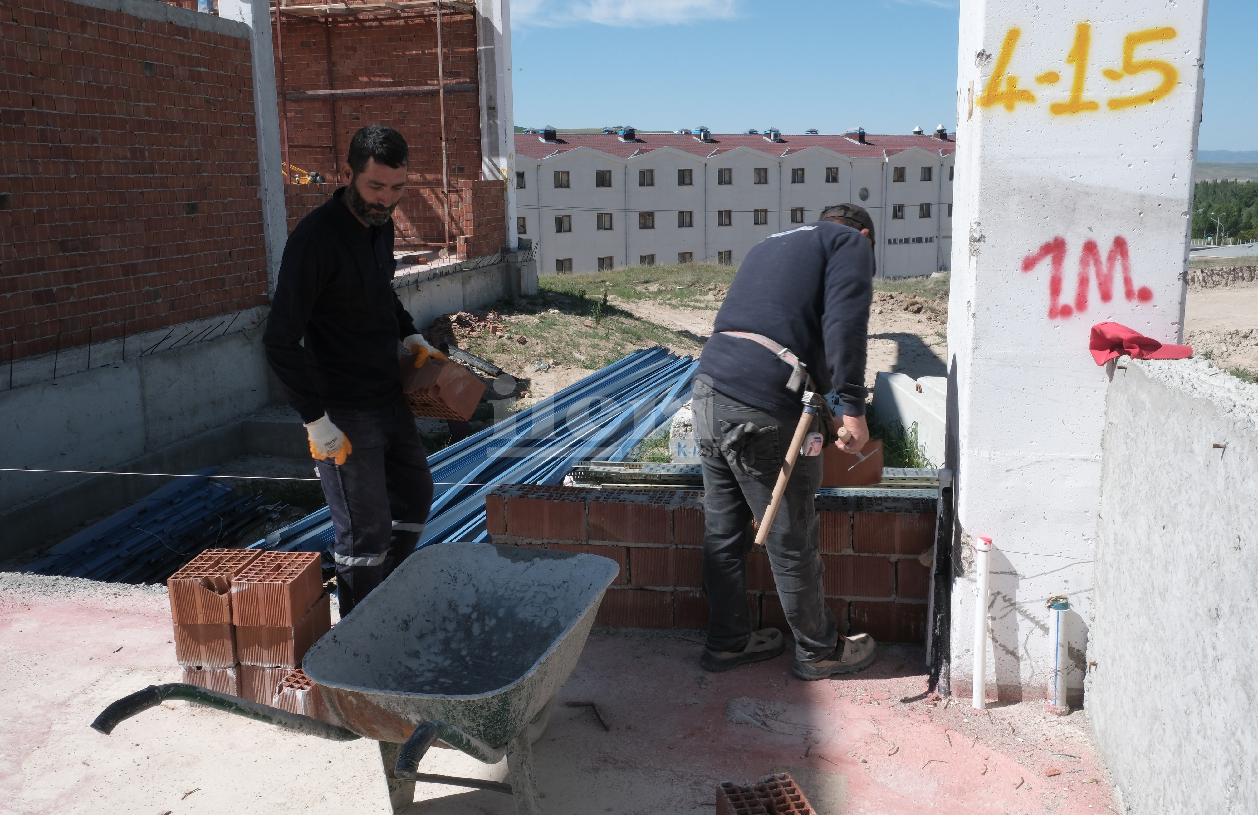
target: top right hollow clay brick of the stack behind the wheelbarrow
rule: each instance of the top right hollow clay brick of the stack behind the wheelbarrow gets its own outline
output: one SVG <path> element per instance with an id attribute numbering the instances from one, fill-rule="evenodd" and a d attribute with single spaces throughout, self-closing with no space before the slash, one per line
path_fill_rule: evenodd
<path id="1" fill-rule="evenodd" d="M 263 552 L 231 581 L 231 621 L 294 626 L 321 594 L 322 555 Z"/>

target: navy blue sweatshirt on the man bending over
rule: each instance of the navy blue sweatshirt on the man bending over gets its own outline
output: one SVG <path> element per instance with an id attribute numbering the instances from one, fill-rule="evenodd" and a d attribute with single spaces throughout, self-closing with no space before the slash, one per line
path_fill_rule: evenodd
<path id="1" fill-rule="evenodd" d="M 873 247 L 850 226 L 816 221 L 770 235 L 747 253 L 716 316 L 696 376 L 766 413 L 795 418 L 804 395 L 786 390 L 791 366 L 764 346 L 722 331 L 750 331 L 790 348 L 818 392 L 838 392 L 863 416 Z"/>

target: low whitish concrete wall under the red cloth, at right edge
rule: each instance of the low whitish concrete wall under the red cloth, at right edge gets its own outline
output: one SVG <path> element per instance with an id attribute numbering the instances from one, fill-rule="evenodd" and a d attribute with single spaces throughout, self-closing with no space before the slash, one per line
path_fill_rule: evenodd
<path id="1" fill-rule="evenodd" d="M 1132 815 L 1258 812 L 1258 385 L 1130 362 L 1105 419 L 1097 745 Z"/>

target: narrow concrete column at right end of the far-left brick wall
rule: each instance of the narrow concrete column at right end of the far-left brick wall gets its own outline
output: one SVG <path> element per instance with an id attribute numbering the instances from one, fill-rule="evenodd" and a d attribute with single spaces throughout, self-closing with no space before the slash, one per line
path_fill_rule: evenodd
<path id="1" fill-rule="evenodd" d="M 267 0 L 219 0 L 219 16 L 249 26 L 253 52 L 253 111 L 258 128 L 258 197 L 262 199 L 267 279 L 276 291 L 279 260 L 288 240 L 284 209 L 284 169 L 279 148 L 279 107 L 276 101 L 276 57 L 270 47 L 270 6 Z"/>

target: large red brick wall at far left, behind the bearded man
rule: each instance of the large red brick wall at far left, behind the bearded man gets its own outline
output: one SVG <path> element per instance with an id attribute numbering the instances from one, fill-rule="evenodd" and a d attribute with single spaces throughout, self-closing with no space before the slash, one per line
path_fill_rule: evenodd
<path id="1" fill-rule="evenodd" d="M 267 302 L 248 40 L 63 0 L 0 38 L 0 346 Z"/>

